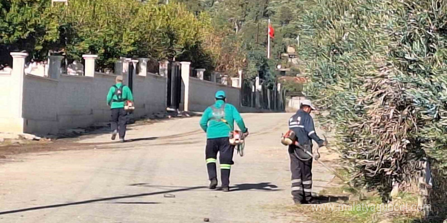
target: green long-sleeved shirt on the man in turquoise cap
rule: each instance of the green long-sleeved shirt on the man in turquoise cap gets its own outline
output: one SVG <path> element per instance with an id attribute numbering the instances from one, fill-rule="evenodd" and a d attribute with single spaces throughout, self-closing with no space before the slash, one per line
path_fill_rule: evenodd
<path id="1" fill-rule="evenodd" d="M 221 108 L 224 103 L 225 102 L 222 100 L 217 100 L 213 106 Z M 244 120 L 242 120 L 242 117 L 235 106 L 225 103 L 224 110 L 227 123 L 214 120 L 213 109 L 211 107 L 205 109 L 202 119 L 200 120 L 200 127 L 206 132 L 206 137 L 208 139 L 228 137 L 230 132 L 234 130 L 234 122 L 237 123 L 242 132 L 247 132 Z"/>

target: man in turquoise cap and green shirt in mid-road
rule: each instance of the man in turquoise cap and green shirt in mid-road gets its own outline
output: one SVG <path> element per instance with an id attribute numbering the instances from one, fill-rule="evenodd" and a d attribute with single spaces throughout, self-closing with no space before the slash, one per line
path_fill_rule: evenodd
<path id="1" fill-rule="evenodd" d="M 210 180 L 209 188 L 216 189 L 217 187 L 216 160 L 219 153 L 221 188 L 223 192 L 229 192 L 230 169 L 234 164 L 234 145 L 230 144 L 229 136 L 234 130 L 234 122 L 245 136 L 248 135 L 248 129 L 236 107 L 226 103 L 225 92 L 217 91 L 215 100 L 214 105 L 205 109 L 200 120 L 200 126 L 207 136 L 205 159 Z"/>

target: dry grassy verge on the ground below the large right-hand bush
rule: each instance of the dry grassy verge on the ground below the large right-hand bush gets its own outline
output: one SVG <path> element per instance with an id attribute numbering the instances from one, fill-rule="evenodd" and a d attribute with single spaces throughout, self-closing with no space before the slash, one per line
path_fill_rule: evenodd
<path id="1" fill-rule="evenodd" d="M 417 197 L 415 194 L 400 193 L 393 202 L 383 204 L 378 193 L 369 193 L 364 200 L 358 200 L 355 190 L 348 186 L 330 188 L 322 191 L 325 197 L 334 201 L 319 205 L 295 205 L 291 211 L 304 214 L 308 222 L 392 222 L 410 223 L 422 219 L 422 212 L 417 211 Z M 349 201 L 340 199 L 350 197 Z M 337 199 L 338 198 L 338 199 Z"/>

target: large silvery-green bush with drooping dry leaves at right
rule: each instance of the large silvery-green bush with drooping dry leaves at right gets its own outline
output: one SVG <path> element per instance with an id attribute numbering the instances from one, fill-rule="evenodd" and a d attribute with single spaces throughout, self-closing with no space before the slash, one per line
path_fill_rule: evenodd
<path id="1" fill-rule="evenodd" d="M 302 1 L 300 57 L 354 180 L 409 184 L 447 161 L 445 1 Z"/>

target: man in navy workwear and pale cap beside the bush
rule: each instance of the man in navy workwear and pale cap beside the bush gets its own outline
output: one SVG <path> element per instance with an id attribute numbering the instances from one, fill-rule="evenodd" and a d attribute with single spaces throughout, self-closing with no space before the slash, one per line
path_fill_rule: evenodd
<path id="1" fill-rule="evenodd" d="M 292 196 L 295 203 L 314 204 L 312 199 L 312 156 L 320 158 L 318 150 L 312 151 L 312 139 L 318 146 L 325 146 L 327 141 L 316 135 L 313 119 L 310 116 L 315 107 L 309 100 L 303 100 L 298 112 L 289 120 L 289 129 L 296 134 L 296 143 L 289 146 L 290 170 L 292 171 Z"/>

